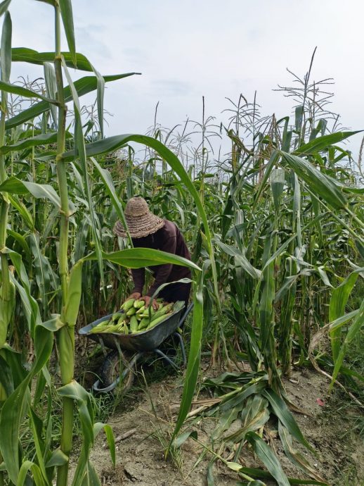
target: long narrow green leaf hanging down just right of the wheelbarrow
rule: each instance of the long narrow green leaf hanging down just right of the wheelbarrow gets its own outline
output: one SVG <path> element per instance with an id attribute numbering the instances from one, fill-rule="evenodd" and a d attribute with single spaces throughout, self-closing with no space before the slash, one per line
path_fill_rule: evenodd
<path id="1" fill-rule="evenodd" d="M 171 447 L 171 444 L 173 443 L 174 438 L 177 436 L 179 430 L 181 430 L 187 413 L 190 410 L 190 406 L 193 400 L 193 394 L 195 393 L 198 371 L 200 369 L 202 326 L 204 320 L 204 302 L 202 289 L 203 273 L 201 272 L 198 275 L 198 280 L 194 289 L 195 293 L 193 298 L 193 323 L 191 330 L 190 354 L 188 356 L 186 378 L 183 385 L 181 406 L 176 421 L 176 427 L 174 428 L 171 442 L 169 442 L 169 448 Z"/>

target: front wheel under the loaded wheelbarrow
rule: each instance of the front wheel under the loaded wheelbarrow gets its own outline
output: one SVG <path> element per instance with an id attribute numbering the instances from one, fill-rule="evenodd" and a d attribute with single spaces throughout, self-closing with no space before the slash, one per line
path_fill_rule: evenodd
<path id="1" fill-rule="evenodd" d="M 106 356 L 100 370 L 100 382 L 104 388 L 115 385 L 110 391 L 125 393 L 133 385 L 136 363 L 131 359 L 129 361 L 128 357 L 132 356 L 126 356 L 124 352 L 119 354 L 118 351 L 112 351 Z"/>

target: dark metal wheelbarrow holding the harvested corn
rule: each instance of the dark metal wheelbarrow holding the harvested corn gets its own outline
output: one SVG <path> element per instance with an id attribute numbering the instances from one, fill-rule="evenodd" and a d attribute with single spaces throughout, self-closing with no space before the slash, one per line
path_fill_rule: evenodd
<path id="1" fill-rule="evenodd" d="M 167 356 L 160 349 L 161 344 L 171 336 L 176 338 L 178 345 L 181 347 L 182 365 L 186 366 L 186 351 L 183 338 L 176 330 L 181 328 L 192 308 L 193 304 L 190 304 L 185 310 L 184 302 L 177 301 L 174 304 L 173 313 L 153 328 L 137 334 L 125 335 L 116 332 L 90 333 L 92 328 L 103 320 L 110 319 L 112 314 L 94 320 L 93 323 L 81 328 L 79 335 L 89 337 L 93 341 L 100 343 L 105 354 L 106 348 L 112 349 L 109 354 L 106 354 L 103 365 L 100 368 L 100 378 L 93 384 L 93 391 L 98 393 L 112 392 L 120 384 L 120 387 L 122 385 L 122 392 L 125 392 L 133 384 L 136 364 L 150 354 L 156 354 L 164 359 L 167 364 L 178 370 L 181 366 L 178 366 L 177 360 Z"/>

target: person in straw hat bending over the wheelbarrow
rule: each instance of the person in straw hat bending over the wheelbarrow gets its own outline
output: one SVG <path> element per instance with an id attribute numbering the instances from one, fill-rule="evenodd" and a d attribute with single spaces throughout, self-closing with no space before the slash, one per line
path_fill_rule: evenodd
<path id="1" fill-rule="evenodd" d="M 186 243 L 177 226 L 167 219 L 161 219 L 152 214 L 143 197 L 132 197 L 129 199 L 125 208 L 125 219 L 134 247 L 162 250 L 183 256 L 188 258 L 188 260 L 191 259 Z M 126 237 L 121 221 L 117 221 L 115 224 L 114 232 L 118 236 Z M 145 294 L 143 294 L 145 268 L 131 270 L 134 289 L 127 299 L 142 299 L 145 301 L 145 306 L 148 306 L 150 298 L 160 285 L 174 282 L 181 278 L 191 278 L 190 269 L 180 265 L 155 265 L 150 270 L 152 270 L 154 282 L 152 282 L 148 292 L 145 292 Z M 184 301 L 187 306 L 190 288 L 190 283 L 173 283 L 164 287 L 159 292 L 158 297 L 162 297 L 167 302 Z M 155 299 L 152 301 L 152 306 L 154 309 L 158 307 Z"/>

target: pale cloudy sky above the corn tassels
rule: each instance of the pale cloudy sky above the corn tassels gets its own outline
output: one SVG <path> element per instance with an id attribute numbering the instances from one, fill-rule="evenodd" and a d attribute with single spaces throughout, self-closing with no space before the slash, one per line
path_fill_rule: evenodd
<path id="1" fill-rule="evenodd" d="M 344 127 L 364 129 L 364 2 L 361 0 L 74 0 L 77 51 L 103 75 L 138 72 L 108 84 L 105 135 L 145 133 L 207 115 L 219 122 L 226 98 L 256 98 L 261 112 L 292 114 L 292 100 L 273 91 L 303 77 L 317 46 L 311 79 L 334 78 L 332 111 Z M 53 8 L 13 0 L 13 46 L 54 49 Z M 65 41 L 63 42 L 66 48 Z M 65 49 L 66 50 L 66 49 Z M 18 75 L 42 75 L 18 64 Z M 74 72 L 74 77 L 79 73 Z M 86 100 L 87 101 L 87 100 Z M 349 148 L 358 156 L 361 135 Z"/>

